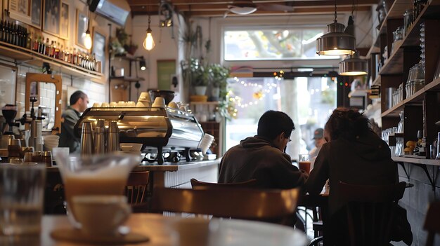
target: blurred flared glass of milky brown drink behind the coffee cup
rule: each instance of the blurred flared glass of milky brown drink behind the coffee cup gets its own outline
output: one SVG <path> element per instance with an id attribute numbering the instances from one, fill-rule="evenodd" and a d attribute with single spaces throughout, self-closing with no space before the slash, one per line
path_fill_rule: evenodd
<path id="1" fill-rule="evenodd" d="M 124 192 L 131 170 L 141 163 L 141 156 L 126 153 L 106 155 L 66 155 L 53 151 L 64 183 L 67 217 L 81 228 L 75 216 L 74 196 L 120 195 Z"/>

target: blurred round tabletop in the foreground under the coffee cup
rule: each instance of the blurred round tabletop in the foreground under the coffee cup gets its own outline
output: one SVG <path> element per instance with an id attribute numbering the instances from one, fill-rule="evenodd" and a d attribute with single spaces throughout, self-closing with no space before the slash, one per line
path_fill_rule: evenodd
<path id="1" fill-rule="evenodd" d="M 202 218 L 164 217 L 162 214 L 131 214 L 127 226 L 132 231 L 148 235 L 150 238 L 150 242 L 136 245 L 302 246 L 307 244 L 306 235 L 302 231 L 278 224 L 240 219 L 207 220 Z M 45 215 L 42 227 L 40 238 L 27 238 L 26 242 L 13 245 L 79 245 L 71 242 L 57 242 L 49 235 L 54 228 L 71 227 L 66 216 Z"/>

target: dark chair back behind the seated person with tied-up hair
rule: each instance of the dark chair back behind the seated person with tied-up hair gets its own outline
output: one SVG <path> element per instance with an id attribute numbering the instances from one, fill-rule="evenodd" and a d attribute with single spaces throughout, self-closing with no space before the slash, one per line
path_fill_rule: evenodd
<path id="1" fill-rule="evenodd" d="M 346 223 L 348 235 L 335 236 L 344 241 L 335 242 L 336 245 L 389 245 L 397 202 L 406 183 L 373 186 L 339 182 L 337 185 L 340 198 L 346 203 L 339 215 L 347 218 L 339 219 Z M 332 216 L 330 226 L 335 226 L 337 219 Z"/>

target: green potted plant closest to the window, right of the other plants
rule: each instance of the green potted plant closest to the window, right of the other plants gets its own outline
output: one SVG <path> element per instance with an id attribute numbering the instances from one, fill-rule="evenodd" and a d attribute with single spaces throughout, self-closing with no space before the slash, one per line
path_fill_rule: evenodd
<path id="1" fill-rule="evenodd" d="M 229 69 L 221 64 L 209 66 L 209 78 L 212 85 L 212 101 L 219 101 L 226 96 L 226 80 L 229 77 Z"/>

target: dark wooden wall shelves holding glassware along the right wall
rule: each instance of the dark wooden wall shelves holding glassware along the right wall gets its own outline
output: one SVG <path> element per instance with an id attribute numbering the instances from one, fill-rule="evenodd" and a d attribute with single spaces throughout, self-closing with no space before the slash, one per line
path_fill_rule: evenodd
<path id="1" fill-rule="evenodd" d="M 413 4 L 413 1 L 406 2 Z M 392 11 L 396 3 L 403 1 L 396 0 Z M 404 19 L 403 13 L 413 13 L 413 11 L 400 8 L 393 13 L 401 13 L 401 18 L 394 15 L 389 19 L 387 16 L 375 41 L 375 46 L 378 43 L 379 47 L 370 48 L 370 64 L 376 58 L 380 67 L 377 69 L 377 76 L 372 78 L 372 85 L 381 86 L 382 129 L 396 127 L 399 123 L 399 113 L 403 111 L 406 123 L 403 141 L 406 143 L 418 139 L 417 132 L 420 130 L 428 146 L 440 131 L 440 128 L 434 124 L 440 118 L 440 79 L 436 75 L 440 62 L 438 57 L 440 1 L 429 1 L 424 8 L 420 8 L 419 15 L 409 24 L 408 20 Z M 403 24 L 404 27 L 400 27 Z M 403 32 L 400 34 L 402 37 L 395 40 L 399 32 Z M 378 59 L 373 57 L 377 50 L 380 50 L 377 54 Z M 370 67 L 374 69 L 375 64 Z M 370 69 L 372 75 L 375 72 L 373 69 Z M 393 88 L 397 90 L 391 95 Z M 403 153 L 399 153 L 398 156 L 401 154 Z M 421 158 L 429 158 L 429 153 L 420 154 Z"/>

